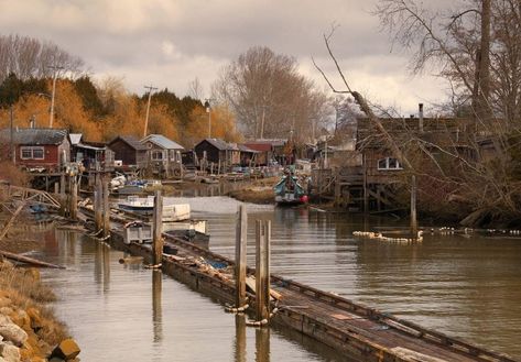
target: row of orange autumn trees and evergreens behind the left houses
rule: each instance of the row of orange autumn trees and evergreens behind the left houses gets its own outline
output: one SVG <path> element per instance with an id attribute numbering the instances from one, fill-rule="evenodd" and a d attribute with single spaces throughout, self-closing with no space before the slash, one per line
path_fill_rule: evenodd
<path id="1" fill-rule="evenodd" d="M 36 84 L 37 87 L 32 84 Z M 42 89 L 43 88 L 43 89 Z M 0 85 L 0 128 L 50 127 L 52 79 L 20 80 L 15 76 Z M 148 95 L 138 97 L 121 80 L 107 78 L 95 85 L 88 77 L 58 79 L 55 90 L 53 128 L 82 133 L 87 141 L 107 142 L 117 135 L 144 135 Z M 235 118 L 229 109 L 211 109 L 211 136 L 238 141 Z M 208 136 L 208 113 L 199 100 L 177 98 L 169 90 L 152 95 L 146 134 L 159 133 L 185 147 Z"/>

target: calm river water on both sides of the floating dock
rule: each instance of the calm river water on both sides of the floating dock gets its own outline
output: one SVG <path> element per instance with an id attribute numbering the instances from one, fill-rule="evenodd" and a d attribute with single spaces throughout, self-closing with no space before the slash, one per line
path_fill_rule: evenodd
<path id="1" fill-rule="evenodd" d="M 189 202 L 194 217 L 209 220 L 210 249 L 234 255 L 237 201 L 167 202 Z M 363 220 L 345 215 L 249 205 L 248 216 L 250 241 L 256 219 L 272 220 L 273 273 L 521 359 L 521 239 L 427 234 L 422 244 L 400 245 L 355 240 Z M 120 265 L 121 256 L 74 233 L 46 237 L 42 257 L 68 270 L 44 277 L 56 285 L 56 311 L 83 347 L 83 361 L 341 359 L 286 331 L 245 329 L 216 301 L 161 273 Z"/>

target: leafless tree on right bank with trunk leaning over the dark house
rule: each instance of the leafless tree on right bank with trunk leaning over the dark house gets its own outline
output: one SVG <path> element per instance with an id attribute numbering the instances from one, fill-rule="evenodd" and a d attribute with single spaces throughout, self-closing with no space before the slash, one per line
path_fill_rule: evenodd
<path id="1" fill-rule="evenodd" d="M 519 142 L 512 138 L 511 125 L 515 121 L 506 117 L 514 113 L 519 105 L 520 29 L 513 24 L 521 7 L 513 0 L 498 0 L 492 9 L 488 0 L 462 2 L 469 3 L 475 7 L 445 17 L 411 0 L 381 0 L 377 9 L 395 43 L 416 46 L 412 70 L 436 64 L 439 76 L 452 86 L 452 98 L 463 100 L 459 107 L 470 106 L 468 116 L 476 128 L 467 128 L 464 134 L 459 131 L 466 122 L 453 122 L 453 130 L 447 129 L 437 139 L 408 129 L 405 121 L 392 122 L 401 132 L 390 132 L 390 122 L 377 117 L 375 107 L 349 87 L 330 50 L 332 34 L 325 36 L 325 43 L 345 89 L 335 89 L 323 75 L 335 92 L 355 98 L 372 124 L 370 138 L 379 138 L 410 173 L 430 180 L 431 190 L 442 194 L 437 204 L 462 201 L 465 208 L 475 210 L 470 222 L 482 220 L 484 216 L 504 221 L 519 217 L 521 202 L 521 183 L 513 177 L 515 152 L 520 153 Z M 496 150 L 487 157 L 482 157 L 484 142 L 493 144 Z"/>

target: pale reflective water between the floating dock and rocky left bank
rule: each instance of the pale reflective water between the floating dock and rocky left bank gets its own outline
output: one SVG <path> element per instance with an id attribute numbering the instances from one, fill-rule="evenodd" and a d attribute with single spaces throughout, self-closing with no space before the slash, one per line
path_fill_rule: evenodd
<path id="1" fill-rule="evenodd" d="M 159 271 L 120 264 L 128 255 L 96 240 L 64 231 L 53 237 L 37 257 L 67 270 L 44 270 L 42 278 L 58 296 L 54 308 L 83 361 L 343 360 L 300 334 L 247 328 L 245 316 L 224 312 Z"/>

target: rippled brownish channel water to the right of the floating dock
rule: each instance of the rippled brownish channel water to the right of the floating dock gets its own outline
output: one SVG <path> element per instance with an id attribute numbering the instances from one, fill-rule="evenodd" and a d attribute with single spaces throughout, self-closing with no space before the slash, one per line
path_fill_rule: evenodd
<path id="1" fill-rule="evenodd" d="M 210 250 L 234 257 L 237 202 L 185 200 L 209 220 Z M 256 219 L 272 220 L 273 273 L 521 356 L 521 239 L 427 234 L 421 244 L 383 243 L 354 239 L 352 231 L 406 227 L 408 220 L 247 208 L 250 241 Z M 248 264 L 254 264 L 251 242 Z"/>

